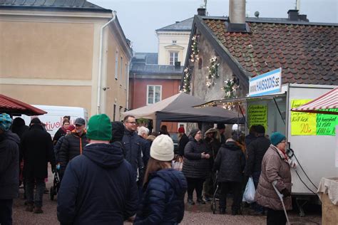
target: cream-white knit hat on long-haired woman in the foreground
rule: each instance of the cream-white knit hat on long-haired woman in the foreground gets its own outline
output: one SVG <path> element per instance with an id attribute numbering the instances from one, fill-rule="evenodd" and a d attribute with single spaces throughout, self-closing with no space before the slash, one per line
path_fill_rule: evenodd
<path id="1" fill-rule="evenodd" d="M 168 135 L 159 135 L 150 147 L 150 157 L 168 162 L 174 158 L 174 143 Z"/>

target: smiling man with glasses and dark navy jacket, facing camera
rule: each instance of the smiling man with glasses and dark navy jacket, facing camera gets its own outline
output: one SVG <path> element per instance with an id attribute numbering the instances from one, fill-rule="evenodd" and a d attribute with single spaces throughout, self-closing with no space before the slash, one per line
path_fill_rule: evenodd
<path id="1" fill-rule="evenodd" d="M 136 133 L 136 120 L 133 115 L 127 115 L 123 119 L 125 127 L 123 135 L 123 145 L 126 151 L 126 160 L 131 164 L 135 171 L 135 179 L 138 186 L 142 186 L 143 179 L 143 160 L 142 160 L 142 147 L 140 145 L 140 137 Z"/>

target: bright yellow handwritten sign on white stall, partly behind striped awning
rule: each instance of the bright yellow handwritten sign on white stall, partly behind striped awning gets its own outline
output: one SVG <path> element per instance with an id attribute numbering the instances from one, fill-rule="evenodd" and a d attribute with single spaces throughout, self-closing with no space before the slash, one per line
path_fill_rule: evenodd
<path id="1" fill-rule="evenodd" d="M 292 100 L 291 108 L 308 103 L 311 99 Z M 316 135 L 317 115 L 307 112 L 291 112 L 291 135 Z"/>

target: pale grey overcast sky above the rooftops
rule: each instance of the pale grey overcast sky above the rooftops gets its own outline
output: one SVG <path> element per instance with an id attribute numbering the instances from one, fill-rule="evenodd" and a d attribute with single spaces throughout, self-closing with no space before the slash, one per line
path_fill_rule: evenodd
<path id="1" fill-rule="evenodd" d="M 123 32 L 133 43 L 134 52 L 158 52 L 155 30 L 197 14 L 203 0 L 87 0 L 117 11 Z M 287 18 L 296 0 L 247 0 L 246 11 L 254 16 Z M 338 0 L 300 0 L 300 14 L 310 22 L 338 23 Z M 228 16 L 228 0 L 208 0 L 209 16 Z"/>

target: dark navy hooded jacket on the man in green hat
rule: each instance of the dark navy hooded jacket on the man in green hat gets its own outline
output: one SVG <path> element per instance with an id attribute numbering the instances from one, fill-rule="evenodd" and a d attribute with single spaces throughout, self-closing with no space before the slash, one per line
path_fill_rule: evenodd
<path id="1" fill-rule="evenodd" d="M 90 144 L 68 163 L 57 215 L 61 224 L 123 224 L 137 202 L 135 174 L 121 145 Z"/>

